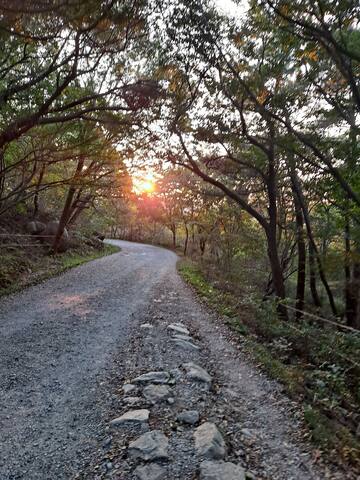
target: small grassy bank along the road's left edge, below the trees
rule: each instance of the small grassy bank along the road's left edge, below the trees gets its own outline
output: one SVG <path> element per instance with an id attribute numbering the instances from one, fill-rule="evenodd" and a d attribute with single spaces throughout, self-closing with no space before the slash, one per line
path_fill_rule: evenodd
<path id="1" fill-rule="evenodd" d="M 43 248 L 0 250 L 0 297 L 119 250 L 107 244 L 81 245 L 59 255 L 49 255 Z"/>

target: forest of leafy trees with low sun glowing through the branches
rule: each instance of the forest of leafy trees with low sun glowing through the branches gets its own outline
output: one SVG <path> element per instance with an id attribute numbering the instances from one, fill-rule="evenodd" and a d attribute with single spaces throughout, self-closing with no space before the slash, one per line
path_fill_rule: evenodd
<path id="1" fill-rule="evenodd" d="M 175 249 L 359 466 L 359 23 L 356 0 L 0 1 L 0 289 L 99 238 Z"/>

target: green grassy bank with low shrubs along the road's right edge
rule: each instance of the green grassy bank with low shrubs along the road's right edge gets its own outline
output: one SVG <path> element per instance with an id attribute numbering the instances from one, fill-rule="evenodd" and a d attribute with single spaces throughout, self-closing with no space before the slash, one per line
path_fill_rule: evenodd
<path id="1" fill-rule="evenodd" d="M 360 335 L 306 320 L 284 322 L 271 302 L 239 298 L 201 264 L 181 260 L 178 269 L 254 361 L 300 400 L 313 442 L 333 461 L 360 469 Z"/>

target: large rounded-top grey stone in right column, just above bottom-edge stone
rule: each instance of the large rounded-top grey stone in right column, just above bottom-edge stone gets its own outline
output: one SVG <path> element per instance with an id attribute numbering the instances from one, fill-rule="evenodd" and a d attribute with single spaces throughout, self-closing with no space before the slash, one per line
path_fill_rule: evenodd
<path id="1" fill-rule="evenodd" d="M 225 441 L 214 423 L 206 422 L 194 432 L 197 455 L 214 460 L 225 457 Z"/>

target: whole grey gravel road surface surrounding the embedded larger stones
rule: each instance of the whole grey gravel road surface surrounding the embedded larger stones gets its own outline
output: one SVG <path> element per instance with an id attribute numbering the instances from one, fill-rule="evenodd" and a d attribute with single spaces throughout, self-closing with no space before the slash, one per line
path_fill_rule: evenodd
<path id="1" fill-rule="evenodd" d="M 0 303 L 1 480 L 135 479 L 144 469 L 127 447 L 149 430 L 169 439 L 169 459 L 158 462 L 166 478 L 198 478 L 193 433 L 205 421 L 221 431 L 226 461 L 252 478 L 357 478 L 314 465 L 296 405 L 196 300 L 174 253 L 112 243 L 122 251 Z M 174 342 L 173 323 L 199 349 Z M 188 362 L 206 369 L 210 388 L 187 376 Z M 170 372 L 167 399 L 146 399 L 142 382 L 122 391 L 150 371 Z M 149 409 L 149 422 L 110 426 L 131 409 Z M 177 420 L 185 410 L 199 413 L 198 424 Z"/>

